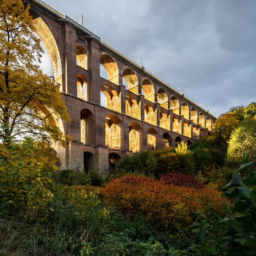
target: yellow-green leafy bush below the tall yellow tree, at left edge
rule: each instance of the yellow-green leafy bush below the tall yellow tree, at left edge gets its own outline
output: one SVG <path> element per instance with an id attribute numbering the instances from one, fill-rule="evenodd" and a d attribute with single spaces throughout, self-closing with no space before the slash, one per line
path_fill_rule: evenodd
<path id="1" fill-rule="evenodd" d="M 36 218 L 45 216 L 52 200 L 50 171 L 56 168 L 56 152 L 45 143 L 25 140 L 0 145 L 0 205 L 2 210 Z"/>

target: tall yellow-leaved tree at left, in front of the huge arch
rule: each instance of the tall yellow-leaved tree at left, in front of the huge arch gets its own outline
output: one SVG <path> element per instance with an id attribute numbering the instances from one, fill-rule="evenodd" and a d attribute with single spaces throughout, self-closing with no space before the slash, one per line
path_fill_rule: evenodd
<path id="1" fill-rule="evenodd" d="M 65 145 L 56 122 L 70 118 L 60 85 L 35 64 L 42 52 L 29 6 L 22 0 L 0 0 L 0 139 L 4 143 L 33 137 Z"/>

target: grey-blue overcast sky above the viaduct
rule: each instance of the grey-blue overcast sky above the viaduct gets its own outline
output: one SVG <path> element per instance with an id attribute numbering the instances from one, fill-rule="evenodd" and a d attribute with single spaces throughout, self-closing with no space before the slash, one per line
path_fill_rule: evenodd
<path id="1" fill-rule="evenodd" d="M 44 2 L 216 116 L 256 102 L 255 0 Z"/>

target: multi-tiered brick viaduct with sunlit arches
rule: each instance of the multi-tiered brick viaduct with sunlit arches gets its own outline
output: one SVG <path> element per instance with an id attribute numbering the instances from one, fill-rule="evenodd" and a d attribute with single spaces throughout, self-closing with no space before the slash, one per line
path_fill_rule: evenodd
<path id="1" fill-rule="evenodd" d="M 44 2 L 24 2 L 71 116 L 70 124 L 58 122 L 73 140 L 56 148 L 62 169 L 108 175 L 124 154 L 209 134 L 216 119 L 209 111 Z"/>

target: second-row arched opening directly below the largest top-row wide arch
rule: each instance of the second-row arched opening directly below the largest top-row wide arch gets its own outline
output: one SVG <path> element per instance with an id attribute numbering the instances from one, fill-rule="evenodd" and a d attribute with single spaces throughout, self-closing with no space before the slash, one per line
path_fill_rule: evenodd
<path id="1" fill-rule="evenodd" d="M 109 84 L 103 84 L 100 87 L 100 105 L 121 113 L 121 93 L 118 95 Z"/>

